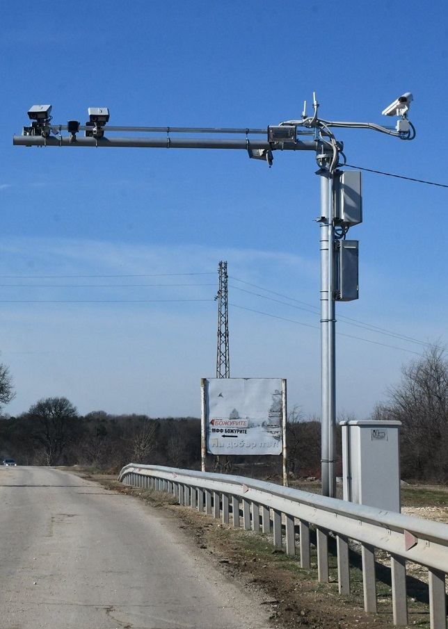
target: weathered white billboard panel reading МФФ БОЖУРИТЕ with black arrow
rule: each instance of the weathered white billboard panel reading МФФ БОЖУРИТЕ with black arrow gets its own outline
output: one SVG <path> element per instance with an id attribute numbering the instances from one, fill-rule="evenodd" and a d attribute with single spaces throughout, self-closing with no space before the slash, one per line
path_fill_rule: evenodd
<path id="1" fill-rule="evenodd" d="M 282 378 L 202 379 L 202 425 L 212 455 L 281 455 Z"/>

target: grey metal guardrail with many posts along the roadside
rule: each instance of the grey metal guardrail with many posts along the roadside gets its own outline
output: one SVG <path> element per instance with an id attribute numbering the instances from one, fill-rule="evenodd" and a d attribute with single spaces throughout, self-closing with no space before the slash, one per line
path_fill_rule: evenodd
<path id="1" fill-rule="evenodd" d="M 375 549 L 390 553 L 392 610 L 395 625 L 408 624 L 406 562 L 429 571 L 431 629 L 447 629 L 445 575 L 448 573 L 448 525 L 347 503 L 336 498 L 282 487 L 242 476 L 129 464 L 120 482 L 173 493 L 179 504 L 198 509 L 223 523 L 273 533 L 275 548 L 296 553 L 296 524 L 301 567 L 310 569 L 310 525 L 316 528 L 318 579 L 328 582 L 328 540 L 336 539 L 339 593 L 350 593 L 349 541 L 361 546 L 366 612 L 377 611 Z M 284 534 L 283 534 L 284 531 Z"/>

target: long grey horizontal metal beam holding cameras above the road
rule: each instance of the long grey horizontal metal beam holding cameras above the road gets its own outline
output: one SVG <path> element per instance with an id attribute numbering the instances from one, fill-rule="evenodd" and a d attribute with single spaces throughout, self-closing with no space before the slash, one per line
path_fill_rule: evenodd
<path id="1" fill-rule="evenodd" d="M 297 142 L 268 142 L 267 140 L 226 138 L 93 138 L 71 136 L 13 136 L 14 146 L 29 147 L 131 147 L 159 149 L 270 149 L 282 151 L 316 151 L 316 140 Z"/>

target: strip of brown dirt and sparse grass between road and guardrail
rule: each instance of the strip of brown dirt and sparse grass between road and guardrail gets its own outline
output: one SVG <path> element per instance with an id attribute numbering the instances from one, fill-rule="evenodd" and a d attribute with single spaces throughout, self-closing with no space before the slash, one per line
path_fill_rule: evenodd
<path id="1" fill-rule="evenodd" d="M 182 528 L 201 553 L 241 587 L 262 594 L 262 604 L 269 605 L 271 623 L 279 629 L 307 627 L 308 629 L 344 629 L 362 626 L 381 629 L 393 626 L 390 596 L 378 596 L 378 614 L 366 614 L 362 603 L 362 576 L 355 575 L 353 596 L 341 596 L 337 591 L 337 571 L 330 569 L 330 583 L 317 581 L 317 565 L 310 571 L 300 568 L 297 559 L 273 550 L 268 537 L 234 529 L 220 521 L 175 504 L 168 494 L 122 485 L 110 475 L 90 474 L 74 470 L 88 480 L 109 489 L 145 500 L 154 507 L 178 518 Z M 448 507 L 405 507 L 403 512 L 448 522 Z M 416 575 L 417 576 L 417 575 Z M 353 581 L 353 576 L 352 576 Z M 410 610 L 412 626 L 429 626 L 427 610 Z"/>

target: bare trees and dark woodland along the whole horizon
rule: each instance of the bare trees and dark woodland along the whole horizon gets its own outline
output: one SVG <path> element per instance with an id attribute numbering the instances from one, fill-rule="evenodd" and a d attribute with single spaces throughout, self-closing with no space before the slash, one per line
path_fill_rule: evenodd
<path id="1" fill-rule="evenodd" d="M 14 397 L 8 368 L 0 365 L 0 404 Z M 344 418 L 347 419 L 347 418 Z M 401 381 L 387 391 L 369 419 L 399 420 L 401 477 L 448 481 L 448 360 L 431 346 L 402 368 Z M 337 475 L 342 475 L 337 426 Z M 288 470 L 293 477 L 320 476 L 321 423 L 300 408 L 287 424 Z M 0 456 L 24 465 L 85 465 L 115 470 L 129 463 L 200 468 L 200 420 L 113 415 L 81 416 L 67 398 L 45 398 L 17 417 L 0 416 Z M 281 457 L 209 457 L 207 469 L 259 477 L 281 476 Z"/>

